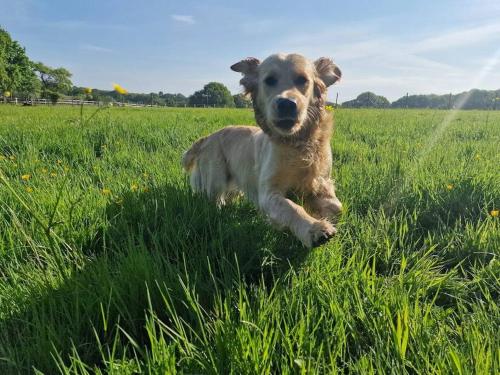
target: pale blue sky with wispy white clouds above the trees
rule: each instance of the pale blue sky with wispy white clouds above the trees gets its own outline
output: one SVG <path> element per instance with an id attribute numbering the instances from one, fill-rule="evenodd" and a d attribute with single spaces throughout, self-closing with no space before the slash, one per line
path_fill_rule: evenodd
<path id="1" fill-rule="evenodd" d="M 336 61 L 339 101 L 500 89 L 500 0 L 0 0 L 0 26 L 78 86 L 237 93 L 233 63 L 299 52 Z"/>

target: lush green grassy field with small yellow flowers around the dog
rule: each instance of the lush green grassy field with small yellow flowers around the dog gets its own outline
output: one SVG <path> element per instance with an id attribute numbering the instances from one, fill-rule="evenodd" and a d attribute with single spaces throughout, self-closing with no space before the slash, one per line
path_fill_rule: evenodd
<path id="1" fill-rule="evenodd" d="M 180 156 L 250 110 L 0 106 L 0 373 L 498 374 L 500 112 L 338 110 L 308 251 Z"/>

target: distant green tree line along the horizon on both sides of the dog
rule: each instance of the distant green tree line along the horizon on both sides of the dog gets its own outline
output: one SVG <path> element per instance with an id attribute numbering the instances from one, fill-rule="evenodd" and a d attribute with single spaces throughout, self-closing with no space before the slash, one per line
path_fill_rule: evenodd
<path id="1" fill-rule="evenodd" d="M 24 99 L 44 98 L 56 103 L 61 97 L 151 104 L 171 107 L 251 107 L 251 101 L 242 94 L 231 95 L 226 86 L 210 82 L 190 96 L 158 93 L 127 93 L 126 97 L 114 90 L 89 89 L 73 86 L 71 73 L 62 67 L 53 68 L 42 62 L 33 62 L 26 50 L 0 27 L 0 96 Z M 333 103 L 328 103 L 332 105 Z M 345 108 L 434 108 L 434 109 L 500 109 L 500 90 L 473 89 L 460 94 L 405 95 L 394 102 L 372 92 L 364 92 L 356 99 L 342 103 Z"/>

